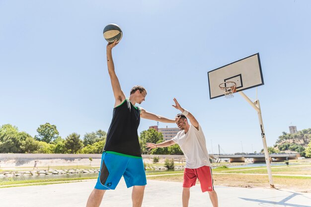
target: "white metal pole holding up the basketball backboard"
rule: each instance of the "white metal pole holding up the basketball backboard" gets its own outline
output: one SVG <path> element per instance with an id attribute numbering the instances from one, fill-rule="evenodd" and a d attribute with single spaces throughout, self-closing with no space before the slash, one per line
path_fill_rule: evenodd
<path id="1" fill-rule="evenodd" d="M 261 138 L 262 138 L 262 143 L 263 143 L 263 151 L 265 153 L 265 160 L 266 160 L 266 165 L 267 165 L 269 183 L 270 183 L 271 188 L 275 188 L 274 183 L 273 183 L 273 178 L 272 178 L 272 171 L 271 171 L 271 166 L 270 166 L 270 156 L 269 156 L 267 142 L 266 142 L 266 135 L 265 135 L 265 131 L 263 129 L 263 122 L 262 122 L 262 117 L 261 117 L 259 100 L 256 100 L 253 103 L 242 91 L 238 91 L 238 93 L 257 111 L 259 124 L 260 124 Z"/>

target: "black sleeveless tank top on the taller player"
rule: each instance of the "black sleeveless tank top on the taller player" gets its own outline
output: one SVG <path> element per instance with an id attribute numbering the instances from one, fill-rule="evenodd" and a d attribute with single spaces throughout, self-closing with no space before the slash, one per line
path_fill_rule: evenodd
<path id="1" fill-rule="evenodd" d="M 140 109 L 126 99 L 113 109 L 112 121 L 107 133 L 104 151 L 141 157 L 137 129 Z"/>

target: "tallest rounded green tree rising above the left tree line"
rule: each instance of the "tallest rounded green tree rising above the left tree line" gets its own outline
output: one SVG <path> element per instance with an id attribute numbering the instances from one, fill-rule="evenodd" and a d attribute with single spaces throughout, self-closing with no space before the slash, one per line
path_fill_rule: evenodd
<path id="1" fill-rule="evenodd" d="M 56 129 L 55 125 L 51 125 L 50 123 L 45 123 L 40 125 L 37 129 L 39 135 L 36 135 L 35 138 L 39 141 L 45 141 L 50 143 L 54 139 L 58 138 L 59 132 Z"/>

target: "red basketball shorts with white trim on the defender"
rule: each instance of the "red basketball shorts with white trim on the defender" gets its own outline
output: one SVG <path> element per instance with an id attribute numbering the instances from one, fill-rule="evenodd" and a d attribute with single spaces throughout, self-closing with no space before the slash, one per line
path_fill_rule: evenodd
<path id="1" fill-rule="evenodd" d="M 202 166 L 196 169 L 185 168 L 182 187 L 190 188 L 200 181 L 202 192 L 214 191 L 212 169 L 210 166 Z"/>

